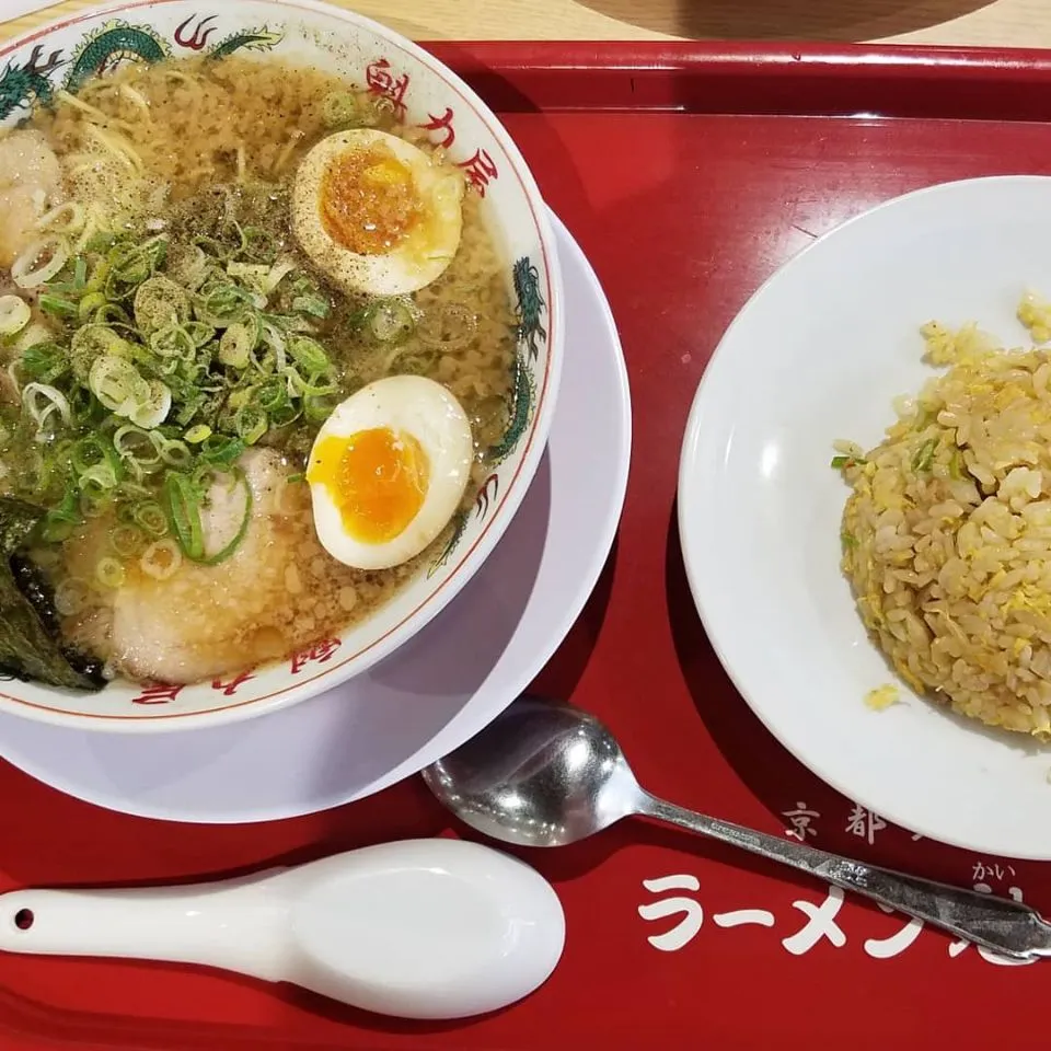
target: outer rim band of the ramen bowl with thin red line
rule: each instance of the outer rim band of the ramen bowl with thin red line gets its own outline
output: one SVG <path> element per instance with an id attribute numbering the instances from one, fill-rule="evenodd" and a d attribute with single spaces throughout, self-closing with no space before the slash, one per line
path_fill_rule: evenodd
<path id="1" fill-rule="evenodd" d="M 119 16 L 139 9 L 152 10 L 164 8 L 168 4 L 186 3 L 187 0 L 130 0 L 130 2 L 102 3 L 82 11 L 47 22 L 42 26 L 23 33 L 3 43 L 0 47 L 0 59 L 27 44 L 46 37 L 59 30 L 97 20 L 105 15 Z M 44 705 L 35 701 L 15 697 L 0 690 L 0 711 L 10 712 L 38 721 L 58 726 L 77 726 L 81 729 L 95 729 L 106 732 L 158 732 L 164 730 L 184 730 L 221 726 L 243 719 L 255 718 L 279 708 L 289 707 L 322 693 L 325 690 L 338 686 L 348 679 L 367 671 L 380 660 L 389 657 L 400 646 L 408 642 L 418 631 L 436 617 L 471 580 L 477 569 L 488 557 L 493 548 L 500 541 L 507 526 L 524 499 L 526 492 L 540 465 L 547 435 L 554 418 L 554 407 L 557 400 L 562 378 L 562 361 L 565 351 L 565 324 L 563 310 L 563 278 L 558 259 L 554 228 L 550 212 L 540 194 L 540 188 L 533 174 L 515 143 L 510 134 L 504 128 L 499 117 L 486 105 L 481 96 L 453 70 L 439 61 L 415 42 L 402 34 L 373 21 L 355 11 L 338 8 L 322 0 L 226 0 L 223 13 L 249 3 L 273 8 L 276 15 L 287 16 L 289 12 L 303 11 L 311 14 L 321 14 L 336 19 L 349 25 L 357 26 L 366 33 L 383 41 L 393 48 L 408 55 L 451 91 L 455 92 L 486 130 L 496 139 L 500 149 L 511 162 L 511 170 L 518 180 L 526 197 L 532 222 L 538 233 L 539 247 L 546 270 L 546 307 L 548 354 L 547 367 L 544 371 L 543 383 L 536 392 L 536 407 L 533 425 L 526 435 L 526 444 L 521 459 L 511 476 L 510 483 L 504 488 L 499 503 L 494 508 L 488 522 L 483 526 L 481 533 L 458 558 L 452 568 L 443 571 L 442 579 L 428 591 L 419 603 L 406 613 L 395 625 L 388 628 L 381 636 L 359 647 L 349 656 L 343 657 L 338 663 L 333 663 L 316 674 L 304 677 L 290 685 L 276 689 L 263 696 L 236 700 L 231 703 L 217 705 L 213 708 L 198 712 L 150 712 L 135 714 L 96 714 L 74 712 Z M 4 684 L 5 685 L 5 684 Z M 55 691 L 58 693 L 58 691 Z"/>

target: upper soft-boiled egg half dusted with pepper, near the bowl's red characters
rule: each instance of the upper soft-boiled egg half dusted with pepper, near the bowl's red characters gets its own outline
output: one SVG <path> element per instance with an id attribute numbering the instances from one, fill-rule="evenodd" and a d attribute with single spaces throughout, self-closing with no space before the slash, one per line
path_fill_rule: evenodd
<path id="1" fill-rule="evenodd" d="M 439 277 L 460 244 L 463 176 L 396 135 L 322 139 L 292 186 L 296 238 L 349 292 L 396 296 Z"/>

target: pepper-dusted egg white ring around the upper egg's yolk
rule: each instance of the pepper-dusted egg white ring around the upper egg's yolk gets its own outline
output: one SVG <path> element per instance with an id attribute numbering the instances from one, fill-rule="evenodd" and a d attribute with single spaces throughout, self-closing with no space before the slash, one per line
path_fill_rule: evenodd
<path id="1" fill-rule="evenodd" d="M 353 150 L 385 146 L 408 169 L 423 217 L 389 252 L 361 255 L 334 241 L 321 215 L 322 181 L 328 165 Z M 296 172 L 291 216 L 296 238 L 313 263 L 340 288 L 373 296 L 413 292 L 440 277 L 460 245 L 463 177 L 436 163 L 396 135 L 371 128 L 338 131 L 322 139 Z"/>

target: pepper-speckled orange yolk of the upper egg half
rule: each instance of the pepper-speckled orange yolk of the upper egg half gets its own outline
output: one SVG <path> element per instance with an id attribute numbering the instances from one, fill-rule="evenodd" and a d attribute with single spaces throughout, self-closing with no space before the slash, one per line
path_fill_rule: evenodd
<path id="1" fill-rule="evenodd" d="M 321 182 L 325 233 L 358 255 L 380 255 L 401 244 L 419 221 L 413 173 L 383 146 L 347 150 Z"/>

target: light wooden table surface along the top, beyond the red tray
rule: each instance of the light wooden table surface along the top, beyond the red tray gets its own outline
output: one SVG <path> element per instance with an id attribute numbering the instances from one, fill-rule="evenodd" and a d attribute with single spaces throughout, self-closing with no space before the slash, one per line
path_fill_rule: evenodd
<path id="1" fill-rule="evenodd" d="M 0 0 L 0 19 L 10 3 Z M 221 2 L 221 0 L 220 0 Z M 1051 0 L 334 0 L 416 39 L 821 39 L 1051 46 Z M 95 0 L 0 24 L 0 39 Z M 21 5 L 21 4 L 20 4 Z"/>

